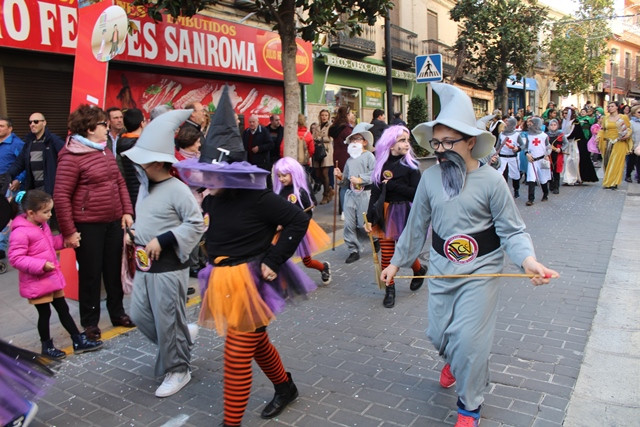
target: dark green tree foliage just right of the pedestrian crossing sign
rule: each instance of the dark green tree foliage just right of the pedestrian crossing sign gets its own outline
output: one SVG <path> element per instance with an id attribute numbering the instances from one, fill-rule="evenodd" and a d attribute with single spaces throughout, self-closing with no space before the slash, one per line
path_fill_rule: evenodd
<path id="1" fill-rule="evenodd" d="M 547 16 L 536 0 L 459 0 L 450 15 L 463 25 L 454 50 L 466 53 L 464 71 L 485 87 L 502 88 L 533 67 Z"/>

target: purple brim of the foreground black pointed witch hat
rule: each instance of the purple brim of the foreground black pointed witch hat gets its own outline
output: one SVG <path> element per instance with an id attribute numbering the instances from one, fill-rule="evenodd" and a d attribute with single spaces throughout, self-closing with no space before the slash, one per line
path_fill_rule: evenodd
<path id="1" fill-rule="evenodd" d="M 269 172 L 247 162 L 202 163 L 198 159 L 186 159 L 173 166 L 182 180 L 192 187 L 248 190 L 267 188 Z"/>

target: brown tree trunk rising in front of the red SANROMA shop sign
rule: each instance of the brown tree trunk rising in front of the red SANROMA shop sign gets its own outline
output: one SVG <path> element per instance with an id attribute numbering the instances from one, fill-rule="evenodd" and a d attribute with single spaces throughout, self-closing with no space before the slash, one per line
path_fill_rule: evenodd
<path id="1" fill-rule="evenodd" d="M 284 155 L 297 157 L 298 114 L 300 113 L 300 84 L 296 72 L 296 23 L 295 2 L 284 0 L 278 8 L 286 25 L 280 25 L 278 33 L 282 42 L 282 70 L 284 80 Z"/>

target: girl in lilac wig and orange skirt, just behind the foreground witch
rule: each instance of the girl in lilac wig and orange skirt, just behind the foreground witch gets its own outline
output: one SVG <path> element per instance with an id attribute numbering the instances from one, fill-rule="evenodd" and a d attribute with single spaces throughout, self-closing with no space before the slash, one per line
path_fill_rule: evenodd
<path id="1" fill-rule="evenodd" d="M 322 284 L 328 285 L 331 283 L 331 266 L 328 262 L 311 258 L 314 252 L 329 245 L 330 238 L 318 223 L 311 219 L 314 205 L 310 197 L 306 172 L 295 159 L 283 157 L 273 165 L 271 179 L 274 193 L 300 207 L 309 216 L 309 228 L 296 249 L 296 255 L 302 258 L 305 267 L 318 270 Z"/>

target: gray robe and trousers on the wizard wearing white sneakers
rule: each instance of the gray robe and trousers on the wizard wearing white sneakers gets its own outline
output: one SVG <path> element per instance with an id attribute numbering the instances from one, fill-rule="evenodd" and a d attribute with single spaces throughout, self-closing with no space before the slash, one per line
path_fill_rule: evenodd
<path id="1" fill-rule="evenodd" d="M 202 212 L 191 190 L 177 178 L 152 184 L 149 195 L 136 204 L 135 243 L 146 246 L 156 236 L 171 231 L 180 262 L 204 233 Z M 131 317 L 140 331 L 158 345 L 155 374 L 189 369 L 193 345 L 187 326 L 189 268 L 150 273 L 136 271 Z"/>

